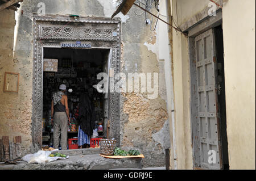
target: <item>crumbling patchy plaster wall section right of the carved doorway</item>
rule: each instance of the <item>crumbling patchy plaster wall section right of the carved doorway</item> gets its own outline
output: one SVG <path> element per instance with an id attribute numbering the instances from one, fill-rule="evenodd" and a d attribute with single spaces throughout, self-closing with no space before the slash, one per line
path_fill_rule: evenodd
<path id="1" fill-rule="evenodd" d="M 142 22 L 134 22 L 141 24 Z M 150 41 L 148 37 L 155 36 L 154 32 L 148 32 L 144 28 L 143 33 L 138 33 L 144 41 L 134 42 L 133 40 L 123 40 L 124 49 L 123 58 L 125 60 L 124 73 L 133 73 L 136 69 L 142 73 L 157 72 L 160 75 L 159 61 L 156 54 L 148 51 L 143 42 Z M 151 41 L 152 44 L 154 42 Z M 139 49 L 136 53 L 135 49 Z M 132 52 L 133 53 L 132 53 Z M 141 61 L 138 61 L 141 60 Z M 159 81 L 161 81 L 159 79 Z M 160 85 L 160 84 L 159 84 Z M 164 85 L 165 86 L 165 85 Z M 160 87 L 159 87 L 160 92 Z M 166 94 L 166 93 L 165 93 Z M 147 94 L 127 93 L 122 94 L 121 99 L 121 125 L 123 124 L 122 146 L 123 149 L 139 149 L 145 155 L 143 159 L 144 166 L 162 166 L 165 162 L 165 149 L 170 148 L 170 134 L 168 125 L 167 103 L 160 95 L 157 99 L 148 99 Z M 165 127 L 165 128 L 163 128 Z M 164 134 L 160 134 L 163 130 Z M 164 140 L 164 135 L 168 136 Z"/>

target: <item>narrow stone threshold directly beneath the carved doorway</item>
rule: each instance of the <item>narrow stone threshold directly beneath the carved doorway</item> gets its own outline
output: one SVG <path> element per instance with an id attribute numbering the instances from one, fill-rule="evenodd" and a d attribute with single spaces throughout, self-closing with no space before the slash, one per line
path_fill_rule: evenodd
<path id="1" fill-rule="evenodd" d="M 100 154 L 100 148 L 87 148 L 87 149 L 73 149 L 73 150 L 58 150 L 52 151 L 52 153 L 65 154 L 69 156 L 76 156 L 76 155 L 90 155 L 90 154 Z"/>

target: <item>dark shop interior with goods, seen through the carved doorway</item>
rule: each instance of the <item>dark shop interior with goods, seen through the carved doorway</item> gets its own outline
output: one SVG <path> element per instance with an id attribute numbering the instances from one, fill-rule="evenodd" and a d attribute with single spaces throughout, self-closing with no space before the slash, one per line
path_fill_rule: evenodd
<path id="1" fill-rule="evenodd" d="M 108 73 L 110 49 L 73 49 L 43 48 L 44 60 L 57 60 L 57 70 L 43 71 L 43 147 L 53 147 L 53 126 L 51 124 L 51 100 L 53 92 L 59 91 L 61 84 L 66 85 L 69 117 L 68 149 L 97 147 L 97 139 L 90 144 L 90 138 L 106 138 L 108 123 L 108 95 L 99 93 L 94 87 L 98 73 Z M 94 86 L 94 87 L 93 87 Z M 86 120 L 92 126 L 93 134 L 88 137 L 81 134 L 77 121 L 79 115 L 80 96 L 88 95 L 92 103 L 92 120 Z M 53 120 L 54 121 L 54 120 Z M 94 130 L 94 132 L 93 132 Z M 79 134 L 80 133 L 80 134 Z M 80 138 L 80 141 L 79 141 Z M 59 145 L 61 149 L 61 144 Z"/>

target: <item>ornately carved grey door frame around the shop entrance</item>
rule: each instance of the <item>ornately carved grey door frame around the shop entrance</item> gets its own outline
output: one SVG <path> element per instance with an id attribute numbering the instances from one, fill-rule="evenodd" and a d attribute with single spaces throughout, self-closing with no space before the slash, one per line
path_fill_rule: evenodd
<path id="1" fill-rule="evenodd" d="M 43 118 L 43 48 L 61 48 L 61 43 L 91 44 L 91 49 L 110 49 L 109 69 L 120 72 L 121 21 L 106 18 L 79 18 L 69 16 L 35 16 L 34 60 L 32 79 L 32 146 L 42 147 Z M 118 92 L 109 93 L 109 137 L 120 142 Z"/>

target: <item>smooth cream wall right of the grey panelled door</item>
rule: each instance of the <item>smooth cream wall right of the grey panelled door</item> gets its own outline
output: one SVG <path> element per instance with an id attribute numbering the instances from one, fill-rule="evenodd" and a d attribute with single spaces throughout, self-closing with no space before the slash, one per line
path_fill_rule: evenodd
<path id="1" fill-rule="evenodd" d="M 255 1 L 228 1 L 223 32 L 230 169 L 255 169 Z"/>

